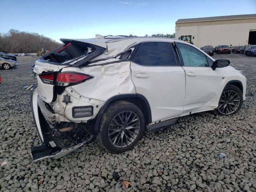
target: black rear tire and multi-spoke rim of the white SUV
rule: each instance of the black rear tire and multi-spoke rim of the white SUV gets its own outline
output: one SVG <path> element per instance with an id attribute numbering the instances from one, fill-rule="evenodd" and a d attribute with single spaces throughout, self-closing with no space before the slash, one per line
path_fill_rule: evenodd
<path id="1" fill-rule="evenodd" d="M 134 118 L 137 120 L 134 121 Z M 131 125 L 134 128 L 129 128 Z M 110 104 L 104 112 L 96 139 L 107 151 L 122 153 L 131 150 L 138 143 L 144 127 L 145 120 L 140 108 L 127 101 L 117 101 Z"/>

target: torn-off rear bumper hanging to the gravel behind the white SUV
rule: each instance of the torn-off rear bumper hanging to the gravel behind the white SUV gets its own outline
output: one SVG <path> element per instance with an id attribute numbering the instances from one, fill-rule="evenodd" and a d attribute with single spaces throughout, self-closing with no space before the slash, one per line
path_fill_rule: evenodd
<path id="1" fill-rule="evenodd" d="M 49 157 L 58 159 L 93 140 L 94 136 L 91 135 L 84 142 L 76 144 L 75 146 L 66 147 L 64 142 L 52 133 L 48 122 L 44 118 L 44 115 L 42 114 L 40 107 L 38 106 L 38 99 L 40 98 L 38 98 L 37 89 L 32 88 L 30 94 L 30 104 L 34 122 L 36 124 L 36 130 L 42 142 L 42 145 L 33 146 L 30 148 L 30 154 L 33 161 Z"/>

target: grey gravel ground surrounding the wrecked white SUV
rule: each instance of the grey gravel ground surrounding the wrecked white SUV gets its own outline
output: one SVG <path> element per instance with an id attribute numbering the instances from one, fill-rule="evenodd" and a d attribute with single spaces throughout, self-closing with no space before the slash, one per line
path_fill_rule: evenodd
<path id="1" fill-rule="evenodd" d="M 174 126 L 144 135 L 123 154 L 110 154 L 92 142 L 58 160 L 32 162 L 30 146 L 40 140 L 24 86 L 36 82 L 30 77 L 35 59 L 18 57 L 18 69 L 0 70 L 0 192 L 256 192 L 256 58 L 214 58 L 229 59 L 247 78 L 247 98 L 238 114 L 182 117 Z M 122 181 L 131 186 L 126 189 Z"/>

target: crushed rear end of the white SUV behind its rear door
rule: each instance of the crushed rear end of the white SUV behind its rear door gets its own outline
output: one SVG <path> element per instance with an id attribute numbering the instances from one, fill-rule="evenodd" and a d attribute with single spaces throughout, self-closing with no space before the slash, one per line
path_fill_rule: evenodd
<path id="1" fill-rule="evenodd" d="M 30 100 L 42 145 L 31 148 L 33 160 L 59 158 L 90 142 L 100 130 L 104 104 L 119 94 L 136 96 L 128 60 L 134 47 L 116 46 L 116 38 L 124 36 L 61 39 L 64 46 L 36 60 L 38 85 Z"/>

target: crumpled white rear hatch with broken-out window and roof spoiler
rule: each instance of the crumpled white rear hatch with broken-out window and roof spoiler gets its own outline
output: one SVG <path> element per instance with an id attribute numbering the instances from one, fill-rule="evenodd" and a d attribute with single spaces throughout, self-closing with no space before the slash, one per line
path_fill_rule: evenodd
<path id="1" fill-rule="evenodd" d="M 61 41 L 64 46 L 36 60 L 33 70 L 38 74 L 38 96 L 47 103 L 52 102 L 56 96 L 56 76 L 62 68 L 85 66 L 106 50 L 106 44 L 97 39 Z"/>

